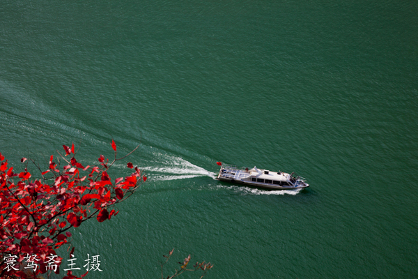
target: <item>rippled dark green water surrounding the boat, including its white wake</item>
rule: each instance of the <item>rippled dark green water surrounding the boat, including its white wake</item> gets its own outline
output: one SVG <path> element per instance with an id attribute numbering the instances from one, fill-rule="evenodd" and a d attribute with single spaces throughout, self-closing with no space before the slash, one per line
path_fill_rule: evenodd
<path id="1" fill-rule="evenodd" d="M 75 142 L 92 165 L 111 138 L 141 144 L 129 160 L 148 181 L 72 230 L 76 274 L 100 255 L 86 278 L 161 278 L 173 248 L 167 275 L 192 254 L 207 278 L 417 278 L 417 15 L 417 1 L 1 1 L 0 152 L 18 169 Z M 217 161 L 311 187 L 222 183 Z"/>

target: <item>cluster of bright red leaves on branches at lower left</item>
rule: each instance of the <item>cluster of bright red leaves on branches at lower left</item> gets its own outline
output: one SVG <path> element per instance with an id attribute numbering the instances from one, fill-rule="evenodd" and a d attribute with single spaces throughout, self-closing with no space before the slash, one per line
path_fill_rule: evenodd
<path id="1" fill-rule="evenodd" d="M 139 185 L 146 181 L 146 177 L 139 169 L 126 176 L 111 179 L 109 168 L 121 159 L 116 158 L 116 144 L 111 141 L 115 159 L 109 160 L 100 156 L 99 166 L 83 167 L 75 159 L 75 147 L 63 145 L 65 156 L 61 156 L 59 165 L 54 163 L 54 156 L 49 158 L 47 169 L 27 171 L 15 174 L 13 167 L 0 153 L 0 278 L 3 276 L 17 276 L 32 278 L 22 271 L 6 269 L 5 256 L 16 256 L 17 265 L 24 262 L 24 257 L 36 255 L 40 268 L 36 275 L 45 273 L 45 261 L 50 254 L 56 255 L 55 250 L 65 243 L 69 243 L 67 232 L 71 227 L 79 227 L 84 221 L 96 217 L 98 222 L 116 216 L 112 209 L 107 209 L 118 202 L 130 197 Z M 124 158 L 124 157 L 123 157 Z M 26 158 L 22 159 L 22 163 Z M 60 163 L 61 162 L 61 163 Z M 61 166 L 63 162 L 67 165 Z M 127 164 L 127 169 L 130 170 Z M 130 172 L 132 172 L 130 170 Z M 35 178 L 34 178 L 35 177 Z M 57 270 L 58 273 L 58 270 Z M 82 276 L 83 277 L 83 276 Z M 67 273 L 65 278 L 76 278 Z"/>

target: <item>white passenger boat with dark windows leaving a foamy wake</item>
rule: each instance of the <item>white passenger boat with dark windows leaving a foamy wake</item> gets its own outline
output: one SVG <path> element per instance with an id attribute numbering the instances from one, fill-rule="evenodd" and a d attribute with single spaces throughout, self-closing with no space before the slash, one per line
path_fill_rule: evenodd
<path id="1" fill-rule="evenodd" d="M 270 172 L 267 169 L 258 169 L 253 167 L 242 167 L 238 169 L 235 165 L 226 165 L 217 162 L 221 166 L 217 179 L 231 183 L 241 183 L 247 186 L 255 186 L 257 188 L 265 188 L 269 190 L 286 190 L 307 188 L 309 184 L 307 180 L 301 176 L 297 176 L 294 172 L 288 174 L 286 172 Z"/>

